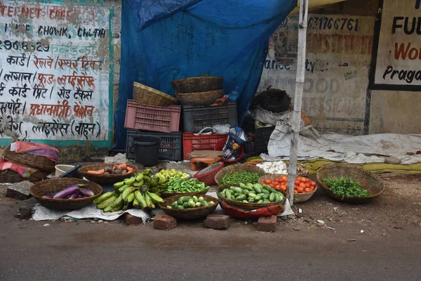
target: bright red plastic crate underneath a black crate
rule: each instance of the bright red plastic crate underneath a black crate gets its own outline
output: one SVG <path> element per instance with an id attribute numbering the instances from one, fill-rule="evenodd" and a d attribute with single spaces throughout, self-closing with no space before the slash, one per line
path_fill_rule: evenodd
<path id="1" fill-rule="evenodd" d="M 218 141 L 227 140 L 227 134 L 194 136 L 194 133 L 182 133 L 182 153 L 188 160 L 187 153 L 193 150 L 213 150 Z"/>

